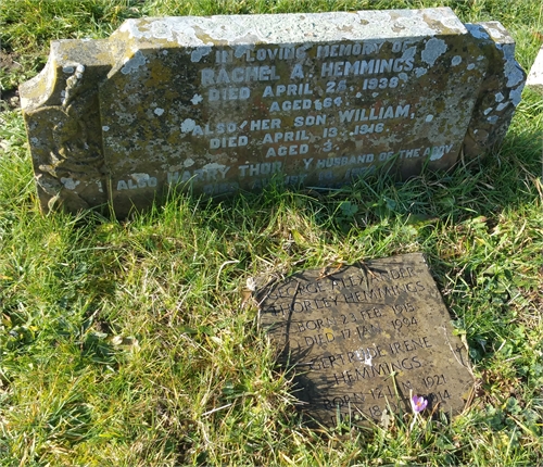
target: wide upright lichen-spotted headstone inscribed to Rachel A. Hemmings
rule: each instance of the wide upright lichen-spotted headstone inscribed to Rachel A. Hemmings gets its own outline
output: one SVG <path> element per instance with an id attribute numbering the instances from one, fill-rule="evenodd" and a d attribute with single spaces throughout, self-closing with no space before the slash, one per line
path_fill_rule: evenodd
<path id="1" fill-rule="evenodd" d="M 20 92 L 40 204 L 123 217 L 173 189 L 447 169 L 503 139 L 526 78 L 514 49 L 449 8 L 151 17 L 56 40 Z"/>

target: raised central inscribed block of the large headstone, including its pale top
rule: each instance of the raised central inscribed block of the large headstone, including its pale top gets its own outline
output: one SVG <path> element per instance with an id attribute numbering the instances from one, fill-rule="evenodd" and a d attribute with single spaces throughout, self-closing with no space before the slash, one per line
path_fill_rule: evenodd
<path id="1" fill-rule="evenodd" d="M 129 43 L 99 89 L 121 216 L 172 189 L 450 168 L 489 65 L 449 9 L 140 18 L 110 41 Z"/>

